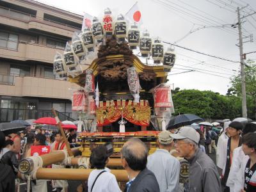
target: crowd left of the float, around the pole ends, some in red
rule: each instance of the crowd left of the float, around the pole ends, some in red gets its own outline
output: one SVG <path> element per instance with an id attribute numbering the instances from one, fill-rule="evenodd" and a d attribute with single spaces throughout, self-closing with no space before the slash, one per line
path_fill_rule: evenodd
<path id="1" fill-rule="evenodd" d="M 76 142 L 76 130 L 65 130 L 70 142 L 70 147 L 74 147 Z M 44 150 L 42 150 L 44 148 Z M 26 131 L 5 135 L 0 131 L 0 164 L 3 169 L 11 168 L 8 177 L 12 179 L 0 179 L 0 191 L 18 191 L 19 161 L 26 157 L 42 156 L 54 150 L 67 150 L 61 132 L 47 131 L 41 128 L 31 131 L 28 127 Z M 65 168 L 63 164 L 52 164 L 49 168 Z M 8 169 L 10 171 L 10 169 Z M 7 172 L 5 172 L 7 173 Z M 1 174 L 0 174 L 1 175 Z M 14 182 L 13 182 L 14 180 Z M 33 180 L 31 182 L 32 191 L 47 191 L 47 180 Z M 67 191 L 67 180 L 52 180 L 52 191 Z"/>

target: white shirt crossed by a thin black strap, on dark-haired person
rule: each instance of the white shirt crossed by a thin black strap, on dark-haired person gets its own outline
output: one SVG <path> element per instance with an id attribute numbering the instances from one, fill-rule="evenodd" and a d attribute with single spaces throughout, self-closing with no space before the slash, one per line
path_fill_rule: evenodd
<path id="1" fill-rule="evenodd" d="M 103 170 L 93 170 L 88 178 L 88 191 L 90 192 L 120 192 L 120 188 L 117 184 L 116 177 L 112 173 L 110 173 L 109 168 L 104 168 L 106 172 L 101 173 L 101 175 L 96 180 L 93 191 L 92 185 L 96 177 L 99 175 L 100 172 Z"/>

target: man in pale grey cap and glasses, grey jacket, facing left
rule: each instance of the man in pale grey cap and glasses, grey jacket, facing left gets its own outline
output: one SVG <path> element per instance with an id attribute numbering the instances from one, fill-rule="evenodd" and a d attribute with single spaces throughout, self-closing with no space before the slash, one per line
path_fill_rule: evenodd
<path id="1" fill-rule="evenodd" d="M 189 192 L 221 191 L 220 176 L 212 159 L 200 151 L 200 135 L 192 127 L 181 127 L 175 139 L 175 147 L 189 162 Z"/>

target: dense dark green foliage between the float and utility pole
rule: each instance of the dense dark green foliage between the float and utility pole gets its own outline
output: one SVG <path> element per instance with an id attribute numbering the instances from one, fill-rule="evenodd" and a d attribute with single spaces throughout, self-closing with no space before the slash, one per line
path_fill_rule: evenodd
<path id="1" fill-rule="evenodd" d="M 241 116 L 238 97 L 220 95 L 211 91 L 180 90 L 173 94 L 175 114 L 192 113 L 202 118 L 236 118 Z"/>

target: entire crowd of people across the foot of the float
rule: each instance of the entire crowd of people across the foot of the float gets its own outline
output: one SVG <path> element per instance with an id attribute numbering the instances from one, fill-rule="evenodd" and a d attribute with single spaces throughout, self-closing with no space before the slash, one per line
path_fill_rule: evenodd
<path id="1" fill-rule="evenodd" d="M 76 142 L 76 131 L 68 132 L 68 141 Z M 24 145 L 22 146 L 22 143 Z M 125 142 L 120 152 L 121 164 L 129 181 L 125 188 L 107 168 L 108 145 L 93 148 L 90 173 L 84 191 L 256 191 L 256 123 L 225 121 L 215 127 L 184 126 L 159 132 L 158 148 L 148 154 L 148 147 L 138 138 Z M 0 131 L 0 191 L 15 191 L 19 159 L 40 156 L 54 150 L 67 150 L 60 132 L 37 129 L 4 135 Z M 22 154 L 20 154 L 22 148 Z M 214 151 L 216 156 L 209 156 Z M 216 163 L 212 161 L 216 157 Z M 188 179 L 180 181 L 180 159 L 189 164 Z M 215 160 L 215 159 L 214 159 Z M 64 168 L 52 164 L 51 168 Z M 52 180 L 52 191 L 67 191 L 67 180 Z M 33 180 L 32 191 L 47 191 L 46 180 Z M 16 189 L 17 190 L 17 189 Z"/>

